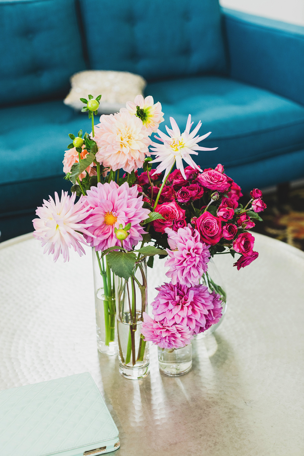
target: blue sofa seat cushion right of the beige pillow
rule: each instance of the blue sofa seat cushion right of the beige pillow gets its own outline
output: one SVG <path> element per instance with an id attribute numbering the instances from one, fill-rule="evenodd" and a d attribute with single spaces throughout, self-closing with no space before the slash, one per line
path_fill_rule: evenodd
<path id="1" fill-rule="evenodd" d="M 183 78 L 149 83 L 146 95 L 160 101 L 165 124 L 174 117 L 185 129 L 188 114 L 202 122 L 201 142 L 216 151 L 200 151 L 201 167 L 222 163 L 227 168 L 304 149 L 304 106 L 257 87 L 219 77 Z"/>

